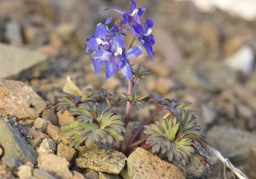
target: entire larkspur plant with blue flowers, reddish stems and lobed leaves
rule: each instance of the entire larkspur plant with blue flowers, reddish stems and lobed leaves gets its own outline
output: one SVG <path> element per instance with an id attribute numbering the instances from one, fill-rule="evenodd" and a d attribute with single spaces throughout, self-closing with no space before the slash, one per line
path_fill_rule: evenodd
<path id="1" fill-rule="evenodd" d="M 193 115 L 195 105 L 190 102 L 177 102 L 164 99 L 157 95 L 146 97 L 132 93 L 133 86 L 142 77 L 150 74 L 140 66 L 134 67 L 129 59 L 142 54 L 142 47 L 147 51 L 148 58 L 152 59 L 155 43 L 152 35 L 153 20 L 148 18 L 143 22 L 141 15 L 145 8 L 137 8 L 131 0 L 129 11 L 107 8 L 120 14 L 113 27 L 109 28 L 111 18 L 104 24 L 97 24 L 94 35 L 86 38 L 86 53 L 92 52 L 95 74 L 100 73 L 100 66 L 104 63 L 106 80 L 119 71 L 128 81 L 128 93 L 116 93 L 106 89 L 87 89 L 83 95 L 64 94 L 57 99 L 57 110 L 64 113 L 69 111 L 76 118 L 70 123 L 63 123 L 60 139 L 70 138 L 70 146 L 89 146 L 93 143 L 112 144 L 116 150 L 129 155 L 131 149 L 137 146 L 151 150 L 153 153 L 162 153 L 174 164 L 186 167 L 207 166 L 209 161 L 202 154 L 208 152 L 205 137 L 196 125 Z M 142 25 L 143 24 L 143 25 Z M 128 49 L 125 49 L 125 36 L 131 34 L 134 39 Z M 140 45 L 132 46 L 134 40 Z M 153 63 L 153 62 L 151 62 Z M 126 101 L 124 119 L 113 112 L 111 100 Z M 124 133 L 129 123 L 132 107 L 141 109 L 146 103 L 156 104 L 156 111 L 144 121 L 141 127 L 133 134 L 127 146 L 122 148 Z M 107 104 L 108 107 L 104 107 Z M 157 114 L 165 111 L 166 114 L 155 120 Z M 153 122 L 155 121 L 155 122 Z M 144 133 L 144 137 L 139 136 Z M 143 134 L 142 133 L 142 134 Z M 142 135 L 143 136 L 143 135 Z"/>

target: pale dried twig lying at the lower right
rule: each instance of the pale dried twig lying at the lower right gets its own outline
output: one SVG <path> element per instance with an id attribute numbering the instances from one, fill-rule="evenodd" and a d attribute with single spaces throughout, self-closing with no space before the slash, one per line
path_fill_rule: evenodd
<path id="1" fill-rule="evenodd" d="M 246 175 L 244 175 L 244 173 L 240 170 L 237 169 L 228 159 L 225 159 L 220 152 L 218 152 L 217 150 L 214 150 L 212 148 L 212 152 L 214 153 L 215 157 L 220 160 L 220 162 L 222 162 L 224 164 L 224 178 L 227 178 L 226 175 L 226 167 L 228 169 L 230 169 L 230 171 L 232 171 L 232 173 L 234 173 L 234 175 L 236 175 L 239 179 L 248 179 L 248 177 Z"/>

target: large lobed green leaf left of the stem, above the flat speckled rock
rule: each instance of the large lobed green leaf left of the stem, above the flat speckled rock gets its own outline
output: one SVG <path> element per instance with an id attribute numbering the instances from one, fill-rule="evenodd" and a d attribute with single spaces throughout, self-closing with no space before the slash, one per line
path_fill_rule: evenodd
<path id="1" fill-rule="evenodd" d="M 120 141 L 124 140 L 122 132 L 125 132 L 120 117 L 97 103 L 86 102 L 79 105 L 81 106 L 81 111 L 74 112 L 80 121 L 64 123 L 61 126 L 60 139 L 68 137 L 71 139 L 70 146 L 76 147 L 83 142 L 86 146 L 99 142 L 118 147 Z"/>

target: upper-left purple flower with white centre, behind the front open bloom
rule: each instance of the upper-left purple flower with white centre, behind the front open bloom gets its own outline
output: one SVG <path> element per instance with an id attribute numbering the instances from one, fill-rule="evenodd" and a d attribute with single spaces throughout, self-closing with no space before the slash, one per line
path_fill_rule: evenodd
<path id="1" fill-rule="evenodd" d="M 109 19 L 107 19 L 106 22 L 108 22 L 108 20 Z M 86 41 L 85 41 L 87 43 L 87 47 L 85 50 L 86 53 L 91 50 L 93 51 L 97 51 L 99 49 L 104 49 L 105 51 L 110 50 L 111 45 L 108 42 L 107 27 L 105 24 L 99 23 L 95 29 L 94 35 L 86 38 Z"/>

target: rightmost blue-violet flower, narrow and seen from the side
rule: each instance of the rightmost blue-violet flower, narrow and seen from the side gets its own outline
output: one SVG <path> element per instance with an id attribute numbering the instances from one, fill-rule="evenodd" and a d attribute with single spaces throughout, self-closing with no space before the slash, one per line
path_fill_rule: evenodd
<path id="1" fill-rule="evenodd" d="M 154 35 L 151 34 L 153 25 L 154 25 L 154 22 L 150 17 L 147 20 L 145 20 L 144 21 L 145 31 L 139 37 L 141 45 L 145 48 L 151 60 L 155 54 L 152 48 L 152 46 L 155 44 L 155 37 Z"/>

